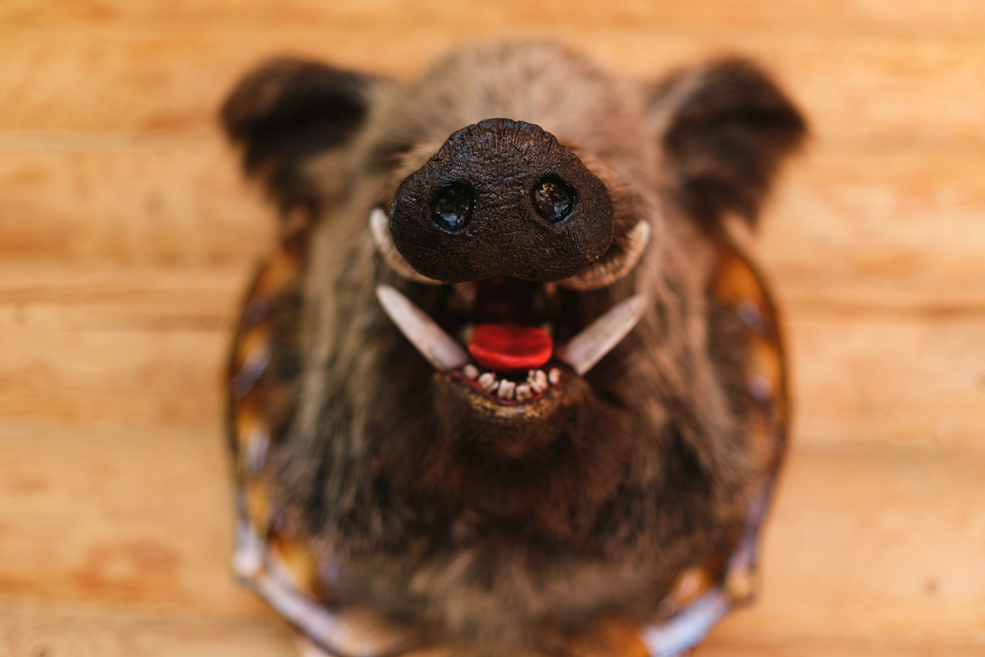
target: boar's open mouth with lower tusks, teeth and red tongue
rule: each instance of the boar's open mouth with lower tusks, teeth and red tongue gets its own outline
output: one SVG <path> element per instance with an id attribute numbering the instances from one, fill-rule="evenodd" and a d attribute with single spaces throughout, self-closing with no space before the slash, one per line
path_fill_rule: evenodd
<path id="1" fill-rule="evenodd" d="M 436 370 L 502 405 L 538 401 L 583 376 L 646 310 L 645 299 L 635 295 L 579 326 L 579 292 L 554 282 L 502 276 L 453 285 L 427 282 L 434 283 L 426 294 L 429 312 L 388 285 L 377 287 L 376 296 Z"/>

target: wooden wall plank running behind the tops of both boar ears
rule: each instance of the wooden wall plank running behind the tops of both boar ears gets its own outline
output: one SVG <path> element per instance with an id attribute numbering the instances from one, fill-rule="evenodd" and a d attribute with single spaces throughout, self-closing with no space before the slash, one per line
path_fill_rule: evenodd
<path id="1" fill-rule="evenodd" d="M 497 28 L 455 14 L 414 30 L 386 23 L 401 20 L 406 15 L 276 29 L 233 23 L 192 33 L 153 25 L 8 31 L 0 40 L 0 89 L 10 90 L 14 102 L 0 106 L 0 126 L 201 131 L 211 127 L 233 81 L 271 53 L 406 76 L 455 42 L 508 33 L 571 43 L 640 78 L 725 52 L 747 54 L 776 72 L 810 108 L 816 134 L 832 143 L 985 142 L 985 58 L 976 37 L 539 19 Z M 912 102 L 915 93 L 919 103 Z"/>

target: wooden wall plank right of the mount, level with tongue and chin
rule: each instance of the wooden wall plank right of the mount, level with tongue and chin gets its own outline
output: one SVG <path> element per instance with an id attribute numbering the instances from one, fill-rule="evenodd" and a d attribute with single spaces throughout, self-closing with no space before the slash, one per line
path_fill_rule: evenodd
<path id="1" fill-rule="evenodd" d="M 985 313 L 788 325 L 797 440 L 985 448 Z"/>

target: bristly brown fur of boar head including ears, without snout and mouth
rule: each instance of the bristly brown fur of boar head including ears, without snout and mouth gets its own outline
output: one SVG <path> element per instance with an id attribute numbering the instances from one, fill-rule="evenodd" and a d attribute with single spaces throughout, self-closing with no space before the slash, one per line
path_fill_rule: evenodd
<path id="1" fill-rule="evenodd" d="M 298 410 L 272 456 L 277 501 L 338 564 L 341 603 L 429 638 L 551 650 L 545 637 L 602 617 L 654 620 L 681 569 L 735 544 L 762 474 L 745 430 L 746 345 L 708 299 L 705 227 L 755 218 L 803 119 L 738 60 L 647 89 L 558 46 L 504 42 L 373 94 L 355 75 L 282 60 L 224 110 L 247 170 L 269 172 L 282 206 L 319 213 Z M 491 117 L 541 126 L 599 176 L 614 249 L 639 220 L 654 236 L 629 276 L 576 300 L 585 323 L 633 293 L 652 309 L 550 422 L 511 443 L 460 414 L 373 296 L 387 283 L 428 311 L 449 288 L 397 277 L 366 228 L 448 135 Z"/>

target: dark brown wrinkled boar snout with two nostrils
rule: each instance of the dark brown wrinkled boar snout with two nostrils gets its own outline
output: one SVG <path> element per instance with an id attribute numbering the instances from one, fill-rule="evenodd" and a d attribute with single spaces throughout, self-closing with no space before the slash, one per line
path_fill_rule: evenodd
<path id="1" fill-rule="evenodd" d="M 606 253 L 612 200 L 554 135 L 490 118 L 448 137 L 400 184 L 390 232 L 415 269 L 446 283 L 560 280 Z"/>

